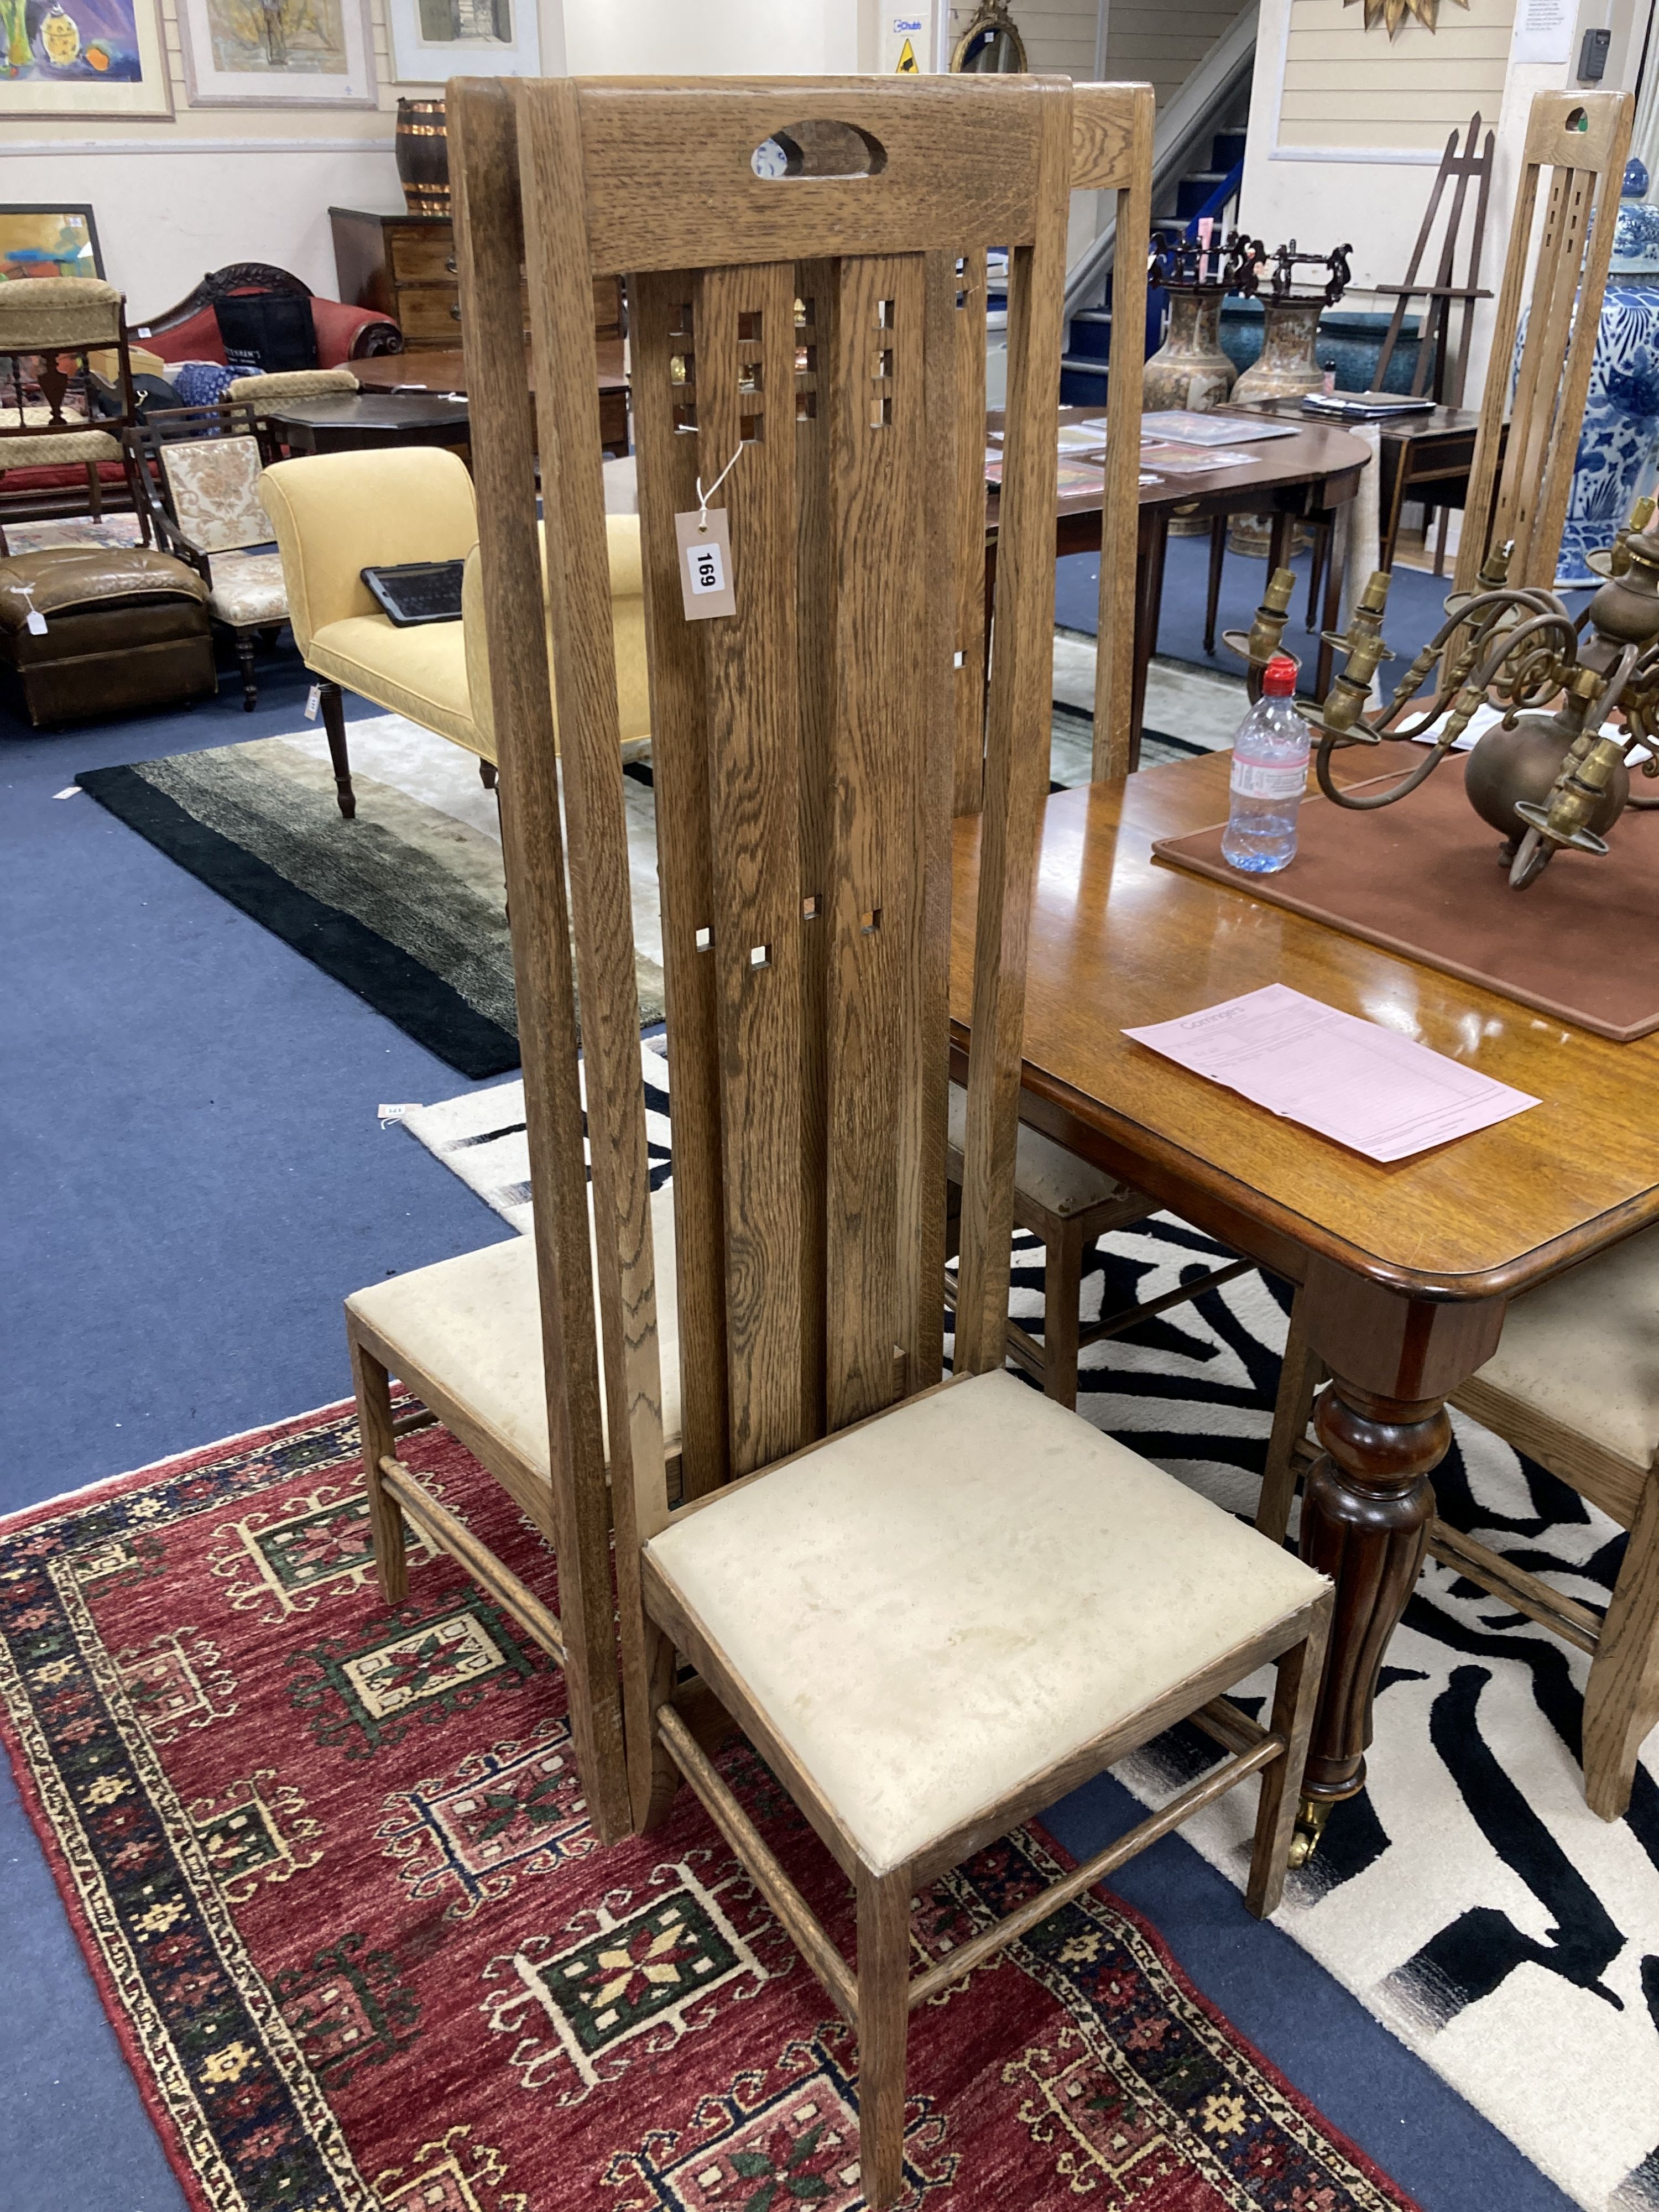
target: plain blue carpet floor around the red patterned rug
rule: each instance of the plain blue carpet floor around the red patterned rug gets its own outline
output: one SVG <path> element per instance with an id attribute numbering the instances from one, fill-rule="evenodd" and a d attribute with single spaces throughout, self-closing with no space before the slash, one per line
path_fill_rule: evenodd
<path id="1" fill-rule="evenodd" d="M 1166 650 L 1188 591 L 1170 555 Z M 1062 564 L 1071 599 L 1079 566 Z M 1201 591 L 1201 549 L 1197 573 Z M 1248 622 L 1261 564 L 1230 560 L 1228 575 Z M 1093 628 L 1093 604 L 1088 622 L 1071 606 L 1062 619 Z M 345 1396 L 343 1294 L 507 1234 L 376 1121 L 380 1102 L 451 1095 L 442 1062 L 91 799 L 51 796 L 84 768 L 292 730 L 303 697 L 288 657 L 248 717 L 226 695 L 55 737 L 0 721 L 0 1509 Z M 1084 1856 L 1135 1818 L 1097 1781 L 1051 1825 Z M 0 1878 L 0 2199 L 179 2212 L 7 1776 Z M 1566 2212 L 1186 1843 L 1166 1838 L 1117 1880 L 1192 1980 L 1425 2212 Z"/>

